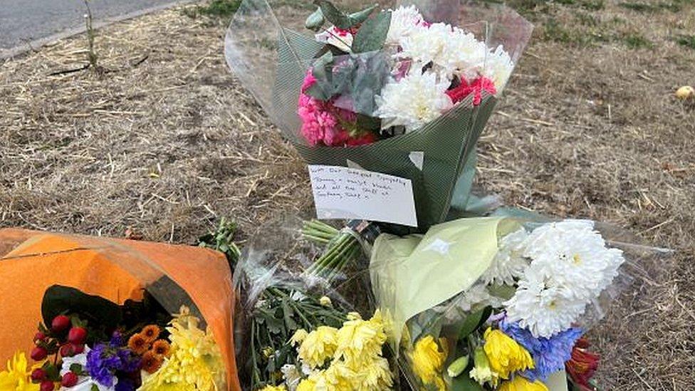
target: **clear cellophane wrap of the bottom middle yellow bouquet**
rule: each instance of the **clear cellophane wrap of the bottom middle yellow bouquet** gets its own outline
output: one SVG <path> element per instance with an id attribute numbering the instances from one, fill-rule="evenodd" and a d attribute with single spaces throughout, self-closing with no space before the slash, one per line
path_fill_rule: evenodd
<path id="1" fill-rule="evenodd" d="M 266 290 L 279 288 L 295 301 L 306 296 L 325 296 L 330 298 L 331 306 L 343 313 L 356 311 L 365 318 L 374 311 L 366 256 L 355 259 L 330 282 L 306 272 L 325 248 L 302 236 L 304 221 L 295 215 L 283 215 L 261 225 L 244 245 L 234 271 L 234 288 L 239 300 L 235 322 L 236 356 L 237 362 L 246 363 L 239 365 L 245 386 L 251 376 L 251 318 L 254 311 L 259 311 Z"/>

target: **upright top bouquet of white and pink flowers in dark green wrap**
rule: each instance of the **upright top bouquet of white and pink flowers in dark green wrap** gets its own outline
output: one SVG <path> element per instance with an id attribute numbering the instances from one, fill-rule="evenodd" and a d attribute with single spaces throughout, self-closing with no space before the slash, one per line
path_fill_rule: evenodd
<path id="1" fill-rule="evenodd" d="M 476 141 L 531 25 L 503 6 L 422 3 L 347 13 L 316 0 L 305 36 L 291 12 L 244 0 L 225 51 L 309 164 L 410 179 L 427 229 L 466 206 Z"/>

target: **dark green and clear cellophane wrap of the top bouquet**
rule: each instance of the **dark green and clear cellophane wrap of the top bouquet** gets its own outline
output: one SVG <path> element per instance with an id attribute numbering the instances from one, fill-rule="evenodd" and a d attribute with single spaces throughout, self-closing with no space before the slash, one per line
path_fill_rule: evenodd
<path id="1" fill-rule="evenodd" d="M 464 99 L 417 130 L 357 147 L 311 146 L 301 135 L 298 100 L 305 75 L 322 50 L 303 21 L 312 6 L 298 10 L 281 1 L 244 0 L 226 33 L 225 54 L 232 71 L 273 123 L 310 165 L 361 167 L 411 179 L 419 229 L 444 221 L 452 207 L 465 209 L 475 172 L 476 142 L 507 80 L 496 95 L 474 105 Z M 414 4 L 427 21 L 448 22 L 474 33 L 488 48 L 501 47 L 518 62 L 532 26 L 506 6 L 461 1 L 399 1 L 380 8 Z M 364 4 L 362 4 L 364 5 Z M 314 7 L 315 8 L 315 7 Z M 362 87 L 363 78 L 389 77 L 387 51 L 338 56 L 336 63 L 357 63 L 358 71 L 336 100 L 338 107 L 372 115 L 380 90 Z M 488 66 L 484 61 L 483 68 Z M 485 71 L 485 70 L 483 70 Z M 342 105 L 342 106 L 341 106 Z"/>

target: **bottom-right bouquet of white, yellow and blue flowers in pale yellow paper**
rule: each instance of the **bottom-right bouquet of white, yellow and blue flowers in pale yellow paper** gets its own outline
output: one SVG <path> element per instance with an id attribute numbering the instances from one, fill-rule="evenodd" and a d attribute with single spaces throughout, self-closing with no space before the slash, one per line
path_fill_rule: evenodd
<path id="1" fill-rule="evenodd" d="M 372 289 L 409 382 L 424 390 L 556 391 L 568 382 L 595 390 L 598 358 L 582 335 L 602 316 L 626 255 L 649 252 L 611 237 L 593 221 L 508 217 L 379 236 Z"/>

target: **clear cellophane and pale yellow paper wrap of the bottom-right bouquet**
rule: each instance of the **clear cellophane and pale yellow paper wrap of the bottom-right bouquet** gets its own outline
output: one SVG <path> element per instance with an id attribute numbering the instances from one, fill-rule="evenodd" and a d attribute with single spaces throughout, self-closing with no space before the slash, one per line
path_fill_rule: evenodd
<path id="1" fill-rule="evenodd" d="M 532 232 L 553 221 L 559 220 L 535 214 L 525 214 L 523 218 L 476 217 L 438 224 L 424 235 L 382 234 L 377 238 L 370 261 L 372 290 L 377 308 L 392 322 L 390 343 L 397 352 L 399 367 L 414 389 L 422 385 L 414 375 L 409 354 L 415 341 L 428 334 L 456 341 L 456 330 L 471 313 L 491 302 L 503 308 L 513 289 L 486 286 L 486 304 L 476 305 L 474 295 L 479 293 L 472 293 L 471 288 L 481 283 L 503 237 L 522 227 Z M 636 236 L 611 224 L 577 221 L 593 224 L 607 248 L 620 249 L 625 258 L 610 286 L 587 305 L 580 320 L 573 324 L 589 330 L 605 316 L 620 291 L 629 286 L 631 271 L 640 270 L 643 261 L 669 256 L 671 251 L 639 244 Z M 447 358 L 446 365 L 451 359 Z M 442 376 L 447 379 L 446 366 Z M 548 387 L 551 391 L 566 390 L 564 379 L 560 374 L 553 375 Z"/>

